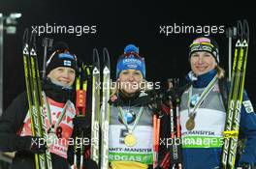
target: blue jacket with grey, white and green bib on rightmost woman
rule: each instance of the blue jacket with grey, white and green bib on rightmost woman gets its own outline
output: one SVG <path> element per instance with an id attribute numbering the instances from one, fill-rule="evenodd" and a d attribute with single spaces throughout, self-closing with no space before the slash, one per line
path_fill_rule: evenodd
<path id="1" fill-rule="evenodd" d="M 192 97 L 190 99 L 192 102 L 199 99 L 216 73 L 216 70 L 208 71 L 193 81 L 191 76 L 187 76 L 187 79 L 192 82 Z M 186 90 L 182 94 L 180 103 L 182 166 L 184 169 L 221 168 L 226 110 L 219 84 L 216 83 L 198 108 L 194 119 L 195 127 L 192 130 L 186 128 L 186 122 L 189 119 L 188 91 Z M 240 109 L 240 138 L 246 138 L 246 142 L 245 149 L 236 162 L 237 165 L 242 163 L 254 165 L 256 163 L 256 114 L 245 91 Z"/>

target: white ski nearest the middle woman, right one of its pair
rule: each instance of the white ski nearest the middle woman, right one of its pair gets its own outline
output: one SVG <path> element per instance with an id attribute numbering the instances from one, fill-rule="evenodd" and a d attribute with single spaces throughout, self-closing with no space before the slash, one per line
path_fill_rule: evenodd
<path id="1" fill-rule="evenodd" d="M 109 168 L 109 125 L 110 125 L 110 87 L 111 68 L 110 55 L 107 48 L 103 49 L 103 93 L 101 107 L 101 169 Z"/>

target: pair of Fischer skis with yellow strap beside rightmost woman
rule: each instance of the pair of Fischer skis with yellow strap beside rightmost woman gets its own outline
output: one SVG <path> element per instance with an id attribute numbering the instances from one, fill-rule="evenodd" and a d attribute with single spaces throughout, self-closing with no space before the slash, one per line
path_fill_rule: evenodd
<path id="1" fill-rule="evenodd" d="M 235 46 L 228 110 L 224 130 L 222 151 L 223 168 L 235 168 L 238 137 L 240 129 L 240 108 L 245 79 L 245 70 L 249 44 L 249 26 L 247 20 L 238 21 L 238 40 Z"/>

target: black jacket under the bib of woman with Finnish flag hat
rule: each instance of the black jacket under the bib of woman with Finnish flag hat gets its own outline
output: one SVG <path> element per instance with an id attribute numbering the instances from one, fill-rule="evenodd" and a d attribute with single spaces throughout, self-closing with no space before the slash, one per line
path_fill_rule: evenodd
<path id="1" fill-rule="evenodd" d="M 58 89 L 56 86 L 46 83 L 45 92 L 48 98 L 58 102 L 66 102 L 72 99 L 73 91 Z M 0 118 L 0 151 L 16 152 L 12 168 L 35 168 L 34 154 L 28 150 L 31 146 L 31 138 L 19 136 L 23 127 L 23 121 L 28 112 L 28 101 L 26 93 L 22 93 L 14 99 Z M 69 147 L 68 158 L 73 163 L 73 146 Z M 51 154 L 53 169 L 67 169 L 67 159 Z"/>

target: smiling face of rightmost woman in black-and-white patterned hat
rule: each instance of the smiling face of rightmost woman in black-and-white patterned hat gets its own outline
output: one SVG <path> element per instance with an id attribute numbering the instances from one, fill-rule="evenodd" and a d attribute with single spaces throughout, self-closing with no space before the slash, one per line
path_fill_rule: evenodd
<path id="1" fill-rule="evenodd" d="M 191 55 L 191 70 L 198 76 L 210 70 L 214 70 L 217 62 L 211 53 L 207 51 L 198 51 Z"/>

